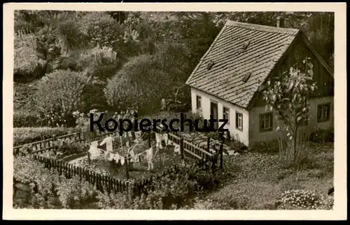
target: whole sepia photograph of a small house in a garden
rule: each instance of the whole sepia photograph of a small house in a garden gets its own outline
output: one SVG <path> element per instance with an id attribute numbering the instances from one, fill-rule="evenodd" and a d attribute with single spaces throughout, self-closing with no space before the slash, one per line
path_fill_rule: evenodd
<path id="1" fill-rule="evenodd" d="M 15 9 L 12 210 L 332 212 L 335 14 Z"/>

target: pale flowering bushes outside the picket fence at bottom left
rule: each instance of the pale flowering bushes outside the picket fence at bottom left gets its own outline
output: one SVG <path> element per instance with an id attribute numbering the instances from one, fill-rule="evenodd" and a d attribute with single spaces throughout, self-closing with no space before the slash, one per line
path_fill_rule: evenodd
<path id="1" fill-rule="evenodd" d="M 97 191 L 94 186 L 83 182 L 79 177 L 66 179 L 59 176 L 57 170 L 48 170 L 43 163 L 35 161 L 31 156 L 19 156 L 13 164 L 13 178 L 23 184 L 30 184 L 31 207 L 48 208 L 48 198 L 59 196 L 61 208 L 76 209 L 96 200 Z"/>

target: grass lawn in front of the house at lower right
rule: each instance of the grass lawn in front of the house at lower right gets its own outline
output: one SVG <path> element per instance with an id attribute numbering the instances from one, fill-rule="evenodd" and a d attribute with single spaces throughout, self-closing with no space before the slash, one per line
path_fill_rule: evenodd
<path id="1" fill-rule="evenodd" d="M 334 145 L 310 144 L 309 156 L 297 171 L 283 168 L 276 154 L 235 156 L 228 166 L 232 179 L 205 198 L 226 203 L 232 210 L 274 210 L 276 200 L 286 190 L 306 189 L 326 196 L 333 185 Z"/>

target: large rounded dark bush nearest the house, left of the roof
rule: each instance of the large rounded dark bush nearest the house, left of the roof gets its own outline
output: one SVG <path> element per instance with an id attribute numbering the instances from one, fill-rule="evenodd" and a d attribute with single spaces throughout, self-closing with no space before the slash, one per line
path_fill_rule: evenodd
<path id="1" fill-rule="evenodd" d="M 129 107 L 140 111 L 150 109 L 160 103 L 162 93 L 171 84 L 168 79 L 151 55 L 140 55 L 124 64 L 113 76 L 104 89 L 105 97 L 108 104 L 118 111 Z"/>

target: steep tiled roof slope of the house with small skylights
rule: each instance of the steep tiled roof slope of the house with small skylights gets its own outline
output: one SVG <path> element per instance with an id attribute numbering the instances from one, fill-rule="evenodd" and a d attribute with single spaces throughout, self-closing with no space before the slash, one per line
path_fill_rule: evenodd
<path id="1" fill-rule="evenodd" d="M 186 84 L 247 108 L 254 93 L 286 52 L 298 29 L 228 21 Z M 242 48 L 244 43 L 248 47 Z M 207 69 L 214 62 L 211 69 Z M 244 76 L 251 74 L 248 81 Z"/>

